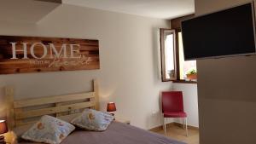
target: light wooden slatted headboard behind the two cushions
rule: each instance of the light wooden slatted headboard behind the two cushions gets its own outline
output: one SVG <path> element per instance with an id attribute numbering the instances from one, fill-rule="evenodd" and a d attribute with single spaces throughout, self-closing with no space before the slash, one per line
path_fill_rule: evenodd
<path id="1" fill-rule="evenodd" d="M 99 89 L 96 80 L 93 80 L 93 91 L 72 95 L 44 96 L 26 100 L 14 100 L 14 89 L 5 88 L 9 110 L 7 121 L 9 130 L 26 124 L 35 123 L 44 115 L 56 118 L 72 118 L 79 115 L 84 108 L 99 110 Z"/>

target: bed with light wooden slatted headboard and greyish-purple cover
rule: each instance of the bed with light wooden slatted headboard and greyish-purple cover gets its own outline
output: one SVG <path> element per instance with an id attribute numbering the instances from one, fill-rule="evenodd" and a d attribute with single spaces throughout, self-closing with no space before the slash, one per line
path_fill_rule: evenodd
<path id="1" fill-rule="evenodd" d="M 6 88 L 8 99 L 9 130 L 29 127 L 43 115 L 51 115 L 69 122 L 77 117 L 85 108 L 99 110 L 99 93 L 96 80 L 90 92 L 47 96 L 36 99 L 14 101 L 14 89 Z M 20 144 L 35 144 L 19 141 Z M 61 144 L 185 144 L 164 135 L 142 130 L 129 124 L 113 121 L 108 130 L 102 132 L 75 130 Z"/>

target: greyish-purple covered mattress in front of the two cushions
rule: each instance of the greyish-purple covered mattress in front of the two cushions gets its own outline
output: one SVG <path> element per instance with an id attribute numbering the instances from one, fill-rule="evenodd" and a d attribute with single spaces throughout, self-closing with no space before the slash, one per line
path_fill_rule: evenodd
<path id="1" fill-rule="evenodd" d="M 19 142 L 20 144 L 36 144 Z M 137 127 L 113 122 L 102 132 L 75 130 L 61 144 L 185 144 Z"/>

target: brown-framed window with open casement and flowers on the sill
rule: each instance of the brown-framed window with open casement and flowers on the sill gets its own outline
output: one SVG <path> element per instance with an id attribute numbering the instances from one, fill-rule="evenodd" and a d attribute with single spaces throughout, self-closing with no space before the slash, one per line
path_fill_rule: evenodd
<path id="1" fill-rule="evenodd" d="M 162 81 L 196 83 L 196 61 L 184 60 L 182 32 L 160 29 L 160 41 Z"/>

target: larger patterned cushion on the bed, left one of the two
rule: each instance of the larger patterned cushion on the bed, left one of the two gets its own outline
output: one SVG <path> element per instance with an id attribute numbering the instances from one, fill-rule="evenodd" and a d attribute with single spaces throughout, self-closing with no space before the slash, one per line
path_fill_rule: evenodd
<path id="1" fill-rule="evenodd" d="M 45 115 L 21 137 L 28 141 L 59 144 L 73 130 L 75 130 L 75 127 L 72 124 Z"/>

